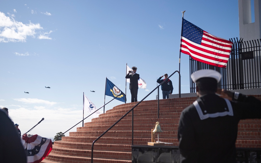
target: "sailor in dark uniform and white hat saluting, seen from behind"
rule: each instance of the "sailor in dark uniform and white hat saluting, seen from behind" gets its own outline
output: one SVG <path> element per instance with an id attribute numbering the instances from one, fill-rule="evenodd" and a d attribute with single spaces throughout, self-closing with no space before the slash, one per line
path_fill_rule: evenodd
<path id="1" fill-rule="evenodd" d="M 261 118 L 261 101 L 253 96 L 218 89 L 221 74 L 199 70 L 191 75 L 198 99 L 180 116 L 180 161 L 236 163 L 235 142 L 240 119 Z M 232 98 L 232 101 L 219 97 Z"/>

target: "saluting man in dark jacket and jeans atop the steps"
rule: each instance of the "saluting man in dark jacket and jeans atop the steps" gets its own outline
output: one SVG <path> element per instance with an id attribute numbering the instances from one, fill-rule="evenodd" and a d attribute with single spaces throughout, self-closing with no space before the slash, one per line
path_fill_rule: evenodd
<path id="1" fill-rule="evenodd" d="M 159 77 L 159 79 L 157 80 L 157 83 L 162 83 L 164 82 L 162 85 L 161 85 L 161 90 L 162 90 L 162 96 L 163 96 L 163 99 L 167 99 L 169 98 L 169 95 L 172 94 L 173 92 L 173 86 L 172 86 L 172 82 L 171 80 L 166 80 L 168 78 L 168 74 L 164 74 L 165 76 L 165 79 L 161 79 L 163 76 Z M 166 81 L 165 81 L 166 80 Z"/>

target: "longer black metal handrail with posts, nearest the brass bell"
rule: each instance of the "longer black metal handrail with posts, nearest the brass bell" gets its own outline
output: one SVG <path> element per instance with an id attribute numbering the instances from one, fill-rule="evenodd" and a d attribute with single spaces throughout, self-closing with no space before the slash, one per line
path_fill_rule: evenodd
<path id="1" fill-rule="evenodd" d="M 179 71 L 175 71 L 174 73 L 172 73 L 167 79 L 168 80 L 173 74 L 175 73 L 179 73 Z M 145 96 L 140 102 L 138 102 L 131 110 L 129 110 L 126 114 L 124 114 L 119 120 L 117 120 L 117 122 L 115 122 L 112 126 L 110 126 L 109 129 L 107 129 L 105 132 L 103 132 L 102 135 L 100 135 L 96 140 L 93 141 L 92 143 L 92 161 L 91 163 L 93 163 L 93 146 L 94 143 L 96 141 L 98 141 L 104 134 L 106 134 L 106 132 L 108 132 L 111 128 L 113 128 L 118 122 L 120 122 L 125 116 L 127 116 L 131 111 L 132 111 L 132 145 L 133 145 L 133 109 L 138 106 L 144 99 L 146 99 L 152 92 L 154 92 L 157 88 L 159 88 L 159 86 L 161 86 L 164 82 L 162 82 L 161 84 L 159 84 L 155 89 L 153 89 L 147 96 Z M 180 98 L 181 94 L 180 94 L 180 73 L 179 73 L 179 98 Z M 158 98 L 159 99 L 159 98 Z M 159 114 L 159 107 L 158 107 L 158 114 Z"/>

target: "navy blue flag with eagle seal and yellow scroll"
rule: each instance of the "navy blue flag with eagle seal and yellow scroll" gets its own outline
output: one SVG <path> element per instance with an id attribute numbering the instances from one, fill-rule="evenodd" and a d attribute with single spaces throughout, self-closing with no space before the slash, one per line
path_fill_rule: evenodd
<path id="1" fill-rule="evenodd" d="M 126 95 L 117 87 L 115 86 L 109 79 L 106 78 L 106 87 L 105 87 L 105 95 L 116 97 L 116 99 L 122 102 L 126 101 Z"/>

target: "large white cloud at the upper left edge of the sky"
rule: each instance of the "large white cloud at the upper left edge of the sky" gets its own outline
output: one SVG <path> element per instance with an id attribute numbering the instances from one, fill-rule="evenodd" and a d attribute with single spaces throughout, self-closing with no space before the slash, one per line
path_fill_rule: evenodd
<path id="1" fill-rule="evenodd" d="M 40 24 L 23 24 L 0 12 L 0 43 L 26 42 L 27 36 L 35 37 L 35 30 L 43 29 Z"/>

